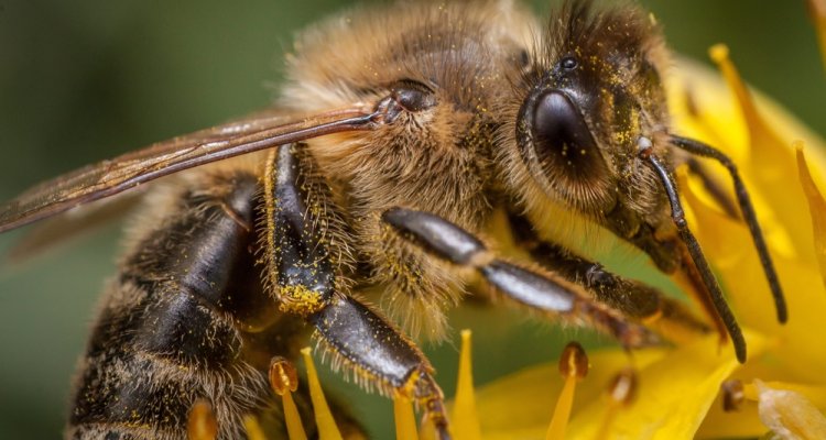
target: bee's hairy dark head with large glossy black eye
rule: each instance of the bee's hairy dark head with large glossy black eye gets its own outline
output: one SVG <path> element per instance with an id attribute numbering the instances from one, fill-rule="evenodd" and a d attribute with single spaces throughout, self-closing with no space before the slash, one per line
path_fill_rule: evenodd
<path id="1" fill-rule="evenodd" d="M 515 133 L 533 178 L 586 213 L 644 205 L 644 176 L 634 176 L 638 145 L 667 124 L 656 25 L 631 6 L 596 10 L 590 1 L 567 1 L 534 52 L 517 81 L 524 100 Z"/>

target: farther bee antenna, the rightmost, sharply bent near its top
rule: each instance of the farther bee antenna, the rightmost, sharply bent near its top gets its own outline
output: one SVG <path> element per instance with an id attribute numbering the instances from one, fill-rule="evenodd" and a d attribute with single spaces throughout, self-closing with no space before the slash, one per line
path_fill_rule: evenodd
<path id="1" fill-rule="evenodd" d="M 754 242 L 754 248 L 757 249 L 758 255 L 760 256 L 760 264 L 763 266 L 763 273 L 765 274 L 765 278 L 769 282 L 769 287 L 772 292 L 772 297 L 774 298 L 774 307 L 778 312 L 778 321 L 780 323 L 785 323 L 786 320 L 789 320 L 789 311 L 786 309 L 786 301 L 783 296 L 783 288 L 780 286 L 778 273 L 775 272 L 774 264 L 772 263 L 772 258 L 769 255 L 769 248 L 765 245 L 765 239 L 763 238 L 763 233 L 760 230 L 760 223 L 758 222 L 757 215 L 754 213 L 754 207 L 753 205 L 751 205 L 751 198 L 749 197 L 749 193 L 746 190 L 746 185 L 743 185 L 743 182 L 740 178 L 740 174 L 737 170 L 737 165 L 735 165 L 731 158 L 729 158 L 719 150 L 706 145 L 699 141 L 672 135 L 671 142 L 677 148 L 686 151 L 696 156 L 713 158 L 719 162 L 728 170 L 729 175 L 731 176 L 731 180 L 735 184 L 735 194 L 737 195 L 737 202 L 740 206 L 740 212 L 742 213 L 742 218 L 746 221 L 746 224 L 749 227 L 751 240 Z"/>

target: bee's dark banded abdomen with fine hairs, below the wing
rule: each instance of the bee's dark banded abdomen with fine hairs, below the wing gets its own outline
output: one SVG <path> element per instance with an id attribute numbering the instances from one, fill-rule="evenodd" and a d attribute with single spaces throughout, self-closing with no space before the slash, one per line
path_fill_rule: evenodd
<path id="1" fill-rule="evenodd" d="M 178 194 L 124 260 L 79 366 L 67 437 L 185 439 L 188 413 L 205 399 L 219 437 L 243 438 L 242 417 L 272 406 L 250 352 L 293 353 L 244 332 L 250 310 L 271 311 L 251 255 L 257 180 L 215 179 L 199 183 L 210 194 Z M 265 333 L 281 327 L 275 319 Z"/>

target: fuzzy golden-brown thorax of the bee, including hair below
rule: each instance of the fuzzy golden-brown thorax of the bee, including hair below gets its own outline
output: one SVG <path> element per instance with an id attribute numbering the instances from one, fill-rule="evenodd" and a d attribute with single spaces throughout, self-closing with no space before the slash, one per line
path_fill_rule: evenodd
<path id="1" fill-rule="evenodd" d="M 380 216 L 405 207 L 480 232 L 499 186 L 493 108 L 532 23 L 508 2 L 400 2 L 308 31 L 289 59 L 293 81 L 282 96 L 290 107 L 313 112 L 388 97 L 398 107 L 380 130 L 316 139 L 308 150 L 351 220 L 381 300 L 414 334 L 444 333 L 444 317 L 433 311 L 459 300 L 460 282 L 398 240 Z"/>

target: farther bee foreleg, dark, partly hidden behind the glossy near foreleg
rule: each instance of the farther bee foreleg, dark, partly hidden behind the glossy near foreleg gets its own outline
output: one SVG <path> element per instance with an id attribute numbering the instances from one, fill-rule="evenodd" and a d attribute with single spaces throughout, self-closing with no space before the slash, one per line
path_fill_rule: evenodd
<path id="1" fill-rule="evenodd" d="M 691 314 L 682 302 L 654 287 L 608 272 L 601 264 L 574 254 L 545 240 L 524 217 L 509 215 L 517 245 L 528 251 L 544 268 L 570 283 L 584 286 L 595 298 L 629 318 L 662 330 L 666 337 L 682 338 L 705 333 L 708 326 Z"/>

